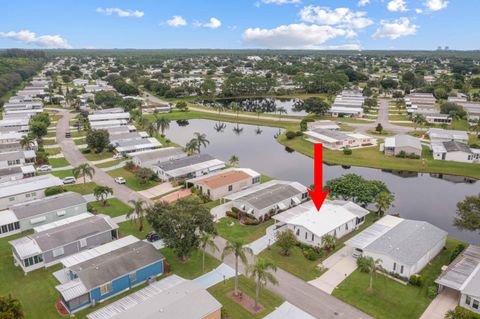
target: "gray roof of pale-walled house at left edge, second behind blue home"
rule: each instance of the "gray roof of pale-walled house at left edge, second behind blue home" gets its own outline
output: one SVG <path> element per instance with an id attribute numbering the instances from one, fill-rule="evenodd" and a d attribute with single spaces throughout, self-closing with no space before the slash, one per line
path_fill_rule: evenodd
<path id="1" fill-rule="evenodd" d="M 18 219 L 24 219 L 84 204 L 86 202 L 87 201 L 79 193 L 67 192 L 14 205 L 10 207 L 10 210 L 15 213 Z"/>

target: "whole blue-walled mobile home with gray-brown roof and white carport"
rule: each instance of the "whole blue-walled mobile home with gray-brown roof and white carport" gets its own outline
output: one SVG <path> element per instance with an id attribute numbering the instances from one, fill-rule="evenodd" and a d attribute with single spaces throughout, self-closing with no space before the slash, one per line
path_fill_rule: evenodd
<path id="1" fill-rule="evenodd" d="M 160 276 L 164 260 L 151 244 L 128 236 L 66 258 L 66 280 L 56 289 L 73 313 Z"/>

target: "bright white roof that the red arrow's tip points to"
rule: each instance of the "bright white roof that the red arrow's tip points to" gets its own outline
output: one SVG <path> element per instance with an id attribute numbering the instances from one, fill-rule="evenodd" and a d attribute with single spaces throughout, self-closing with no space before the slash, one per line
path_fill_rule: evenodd
<path id="1" fill-rule="evenodd" d="M 315 236 L 322 237 L 357 217 L 357 214 L 345 206 L 335 205 L 330 201 L 326 201 L 320 211 L 317 211 L 312 201 L 308 201 L 272 218 L 289 225 L 304 227 Z"/>

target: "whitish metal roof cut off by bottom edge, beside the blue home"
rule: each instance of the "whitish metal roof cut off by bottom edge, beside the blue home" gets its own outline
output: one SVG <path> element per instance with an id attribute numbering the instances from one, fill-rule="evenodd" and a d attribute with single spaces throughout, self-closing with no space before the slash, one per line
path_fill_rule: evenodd
<path id="1" fill-rule="evenodd" d="M 89 319 L 201 319 L 222 305 L 189 280 L 170 276 L 89 315 Z"/>

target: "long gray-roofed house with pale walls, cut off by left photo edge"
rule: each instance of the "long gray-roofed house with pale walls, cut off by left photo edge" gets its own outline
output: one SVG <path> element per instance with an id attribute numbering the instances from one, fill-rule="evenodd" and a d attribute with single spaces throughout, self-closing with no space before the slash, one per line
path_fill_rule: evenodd
<path id="1" fill-rule="evenodd" d="M 66 192 L 28 201 L 0 211 L 0 237 L 87 212 L 87 201 L 78 193 Z"/>

